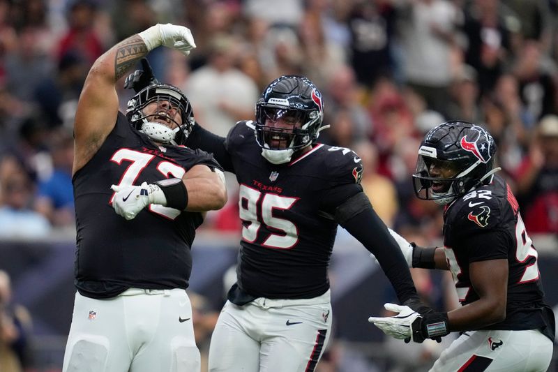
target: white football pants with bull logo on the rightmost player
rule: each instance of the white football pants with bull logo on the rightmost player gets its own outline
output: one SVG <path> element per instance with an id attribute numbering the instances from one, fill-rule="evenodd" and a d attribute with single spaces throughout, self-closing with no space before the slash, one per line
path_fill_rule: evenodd
<path id="1" fill-rule="evenodd" d="M 545 372 L 553 349 L 538 329 L 470 331 L 453 341 L 430 371 Z"/>

